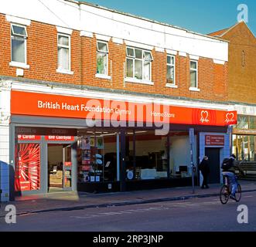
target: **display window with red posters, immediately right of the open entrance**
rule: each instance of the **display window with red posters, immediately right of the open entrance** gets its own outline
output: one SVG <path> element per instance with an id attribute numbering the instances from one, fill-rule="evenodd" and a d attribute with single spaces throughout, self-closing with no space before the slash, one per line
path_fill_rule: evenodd
<path id="1" fill-rule="evenodd" d="M 117 133 L 111 130 L 79 130 L 77 162 L 79 183 L 117 181 Z"/>

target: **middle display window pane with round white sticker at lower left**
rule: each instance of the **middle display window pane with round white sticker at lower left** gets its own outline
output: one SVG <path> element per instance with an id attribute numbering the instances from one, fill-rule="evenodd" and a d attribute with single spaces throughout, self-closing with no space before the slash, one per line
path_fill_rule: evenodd
<path id="1" fill-rule="evenodd" d="M 156 136 L 154 130 L 129 131 L 125 148 L 127 180 L 168 178 L 166 136 Z"/>

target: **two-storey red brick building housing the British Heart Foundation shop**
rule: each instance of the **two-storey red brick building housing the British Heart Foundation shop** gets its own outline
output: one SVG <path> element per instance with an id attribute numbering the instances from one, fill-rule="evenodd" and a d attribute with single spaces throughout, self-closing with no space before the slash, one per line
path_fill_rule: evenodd
<path id="1" fill-rule="evenodd" d="M 186 185 L 205 154 L 220 181 L 228 42 L 84 2 L 0 7 L 2 200 Z"/>

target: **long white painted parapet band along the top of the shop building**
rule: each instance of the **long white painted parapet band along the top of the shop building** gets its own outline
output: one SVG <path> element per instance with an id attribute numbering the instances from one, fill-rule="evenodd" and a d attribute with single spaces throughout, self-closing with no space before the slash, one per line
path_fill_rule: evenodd
<path id="1" fill-rule="evenodd" d="M 0 0 L 0 12 L 137 42 L 137 46 L 171 49 L 222 62 L 228 60 L 228 42 L 93 5 L 81 4 L 79 8 L 76 3 L 63 0 Z"/>

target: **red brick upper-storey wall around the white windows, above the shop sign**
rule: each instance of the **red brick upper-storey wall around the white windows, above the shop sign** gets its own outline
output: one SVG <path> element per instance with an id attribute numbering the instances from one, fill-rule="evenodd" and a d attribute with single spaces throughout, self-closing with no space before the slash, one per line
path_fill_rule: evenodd
<path id="1" fill-rule="evenodd" d="M 0 15 L 0 75 L 16 76 L 16 68 L 9 66 L 10 23 L 5 15 Z M 225 66 L 213 63 L 212 59 L 200 58 L 198 62 L 200 92 L 189 91 L 189 56 L 176 56 L 176 85 L 178 88 L 166 87 L 166 53 L 152 50 L 152 81 L 154 85 L 124 83 L 124 63 L 126 59 L 125 44 L 108 42 L 108 75 L 111 80 L 99 79 L 96 74 L 96 37 L 80 37 L 74 31 L 71 36 L 71 70 L 73 75 L 56 73 L 57 69 L 57 30 L 54 25 L 31 22 L 27 26 L 27 63 L 24 78 L 46 80 L 59 83 L 99 86 L 109 89 L 126 90 L 138 93 L 158 93 L 166 96 L 181 96 L 201 100 L 227 100 L 227 63 Z M 111 69 L 112 61 L 112 69 Z"/>

